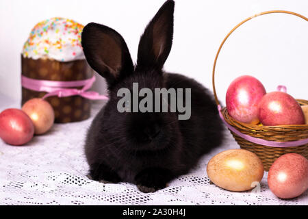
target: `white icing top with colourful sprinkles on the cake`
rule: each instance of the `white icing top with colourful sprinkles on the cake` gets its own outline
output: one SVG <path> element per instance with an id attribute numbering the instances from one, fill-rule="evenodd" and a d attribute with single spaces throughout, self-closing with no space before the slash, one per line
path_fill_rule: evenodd
<path id="1" fill-rule="evenodd" d="M 49 57 L 60 62 L 84 59 L 81 31 L 84 26 L 66 18 L 55 17 L 38 23 L 23 46 L 23 56 Z"/>

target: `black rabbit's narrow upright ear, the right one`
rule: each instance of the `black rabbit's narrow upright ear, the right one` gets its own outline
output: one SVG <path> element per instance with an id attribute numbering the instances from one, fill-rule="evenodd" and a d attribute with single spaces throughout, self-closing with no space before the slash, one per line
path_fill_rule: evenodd
<path id="1" fill-rule="evenodd" d="M 138 47 L 138 67 L 162 69 L 164 66 L 172 45 L 174 10 L 175 2 L 166 1 L 144 30 Z"/>

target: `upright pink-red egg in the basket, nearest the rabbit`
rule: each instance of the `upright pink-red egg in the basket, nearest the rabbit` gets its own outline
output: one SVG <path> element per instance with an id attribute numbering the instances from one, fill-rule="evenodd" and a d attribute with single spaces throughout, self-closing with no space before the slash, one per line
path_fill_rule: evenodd
<path id="1" fill-rule="evenodd" d="M 243 75 L 236 78 L 230 84 L 226 105 L 230 116 L 242 123 L 259 123 L 257 117 L 258 105 L 261 98 L 266 94 L 262 83 L 255 77 Z"/>

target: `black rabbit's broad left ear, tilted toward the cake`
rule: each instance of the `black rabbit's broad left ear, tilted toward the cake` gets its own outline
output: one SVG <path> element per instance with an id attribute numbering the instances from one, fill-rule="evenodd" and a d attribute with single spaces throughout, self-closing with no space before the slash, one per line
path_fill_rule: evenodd
<path id="1" fill-rule="evenodd" d="M 117 31 L 89 23 L 81 34 L 81 45 L 88 64 L 105 77 L 109 86 L 133 73 L 133 62 L 125 40 Z"/>

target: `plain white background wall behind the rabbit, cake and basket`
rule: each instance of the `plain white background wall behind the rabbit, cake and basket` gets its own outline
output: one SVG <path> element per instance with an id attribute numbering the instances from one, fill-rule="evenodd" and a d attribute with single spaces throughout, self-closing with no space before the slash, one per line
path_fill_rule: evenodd
<path id="1" fill-rule="evenodd" d="M 193 77 L 212 90 L 211 70 L 224 36 L 248 16 L 267 10 L 290 10 L 308 16 L 307 0 L 175 0 L 175 31 L 165 70 Z M 86 25 L 103 23 L 116 29 L 136 62 L 146 24 L 164 0 L 0 0 L 0 94 L 21 99 L 23 43 L 32 27 L 54 16 Z M 270 14 L 242 25 L 227 40 L 216 68 L 216 89 L 224 103 L 230 81 L 257 77 L 268 92 L 279 84 L 298 99 L 308 99 L 308 22 L 288 14 Z M 98 76 L 99 77 L 99 76 Z M 103 80 L 96 90 L 103 92 Z M 3 103 L 0 103 L 0 105 Z"/>

